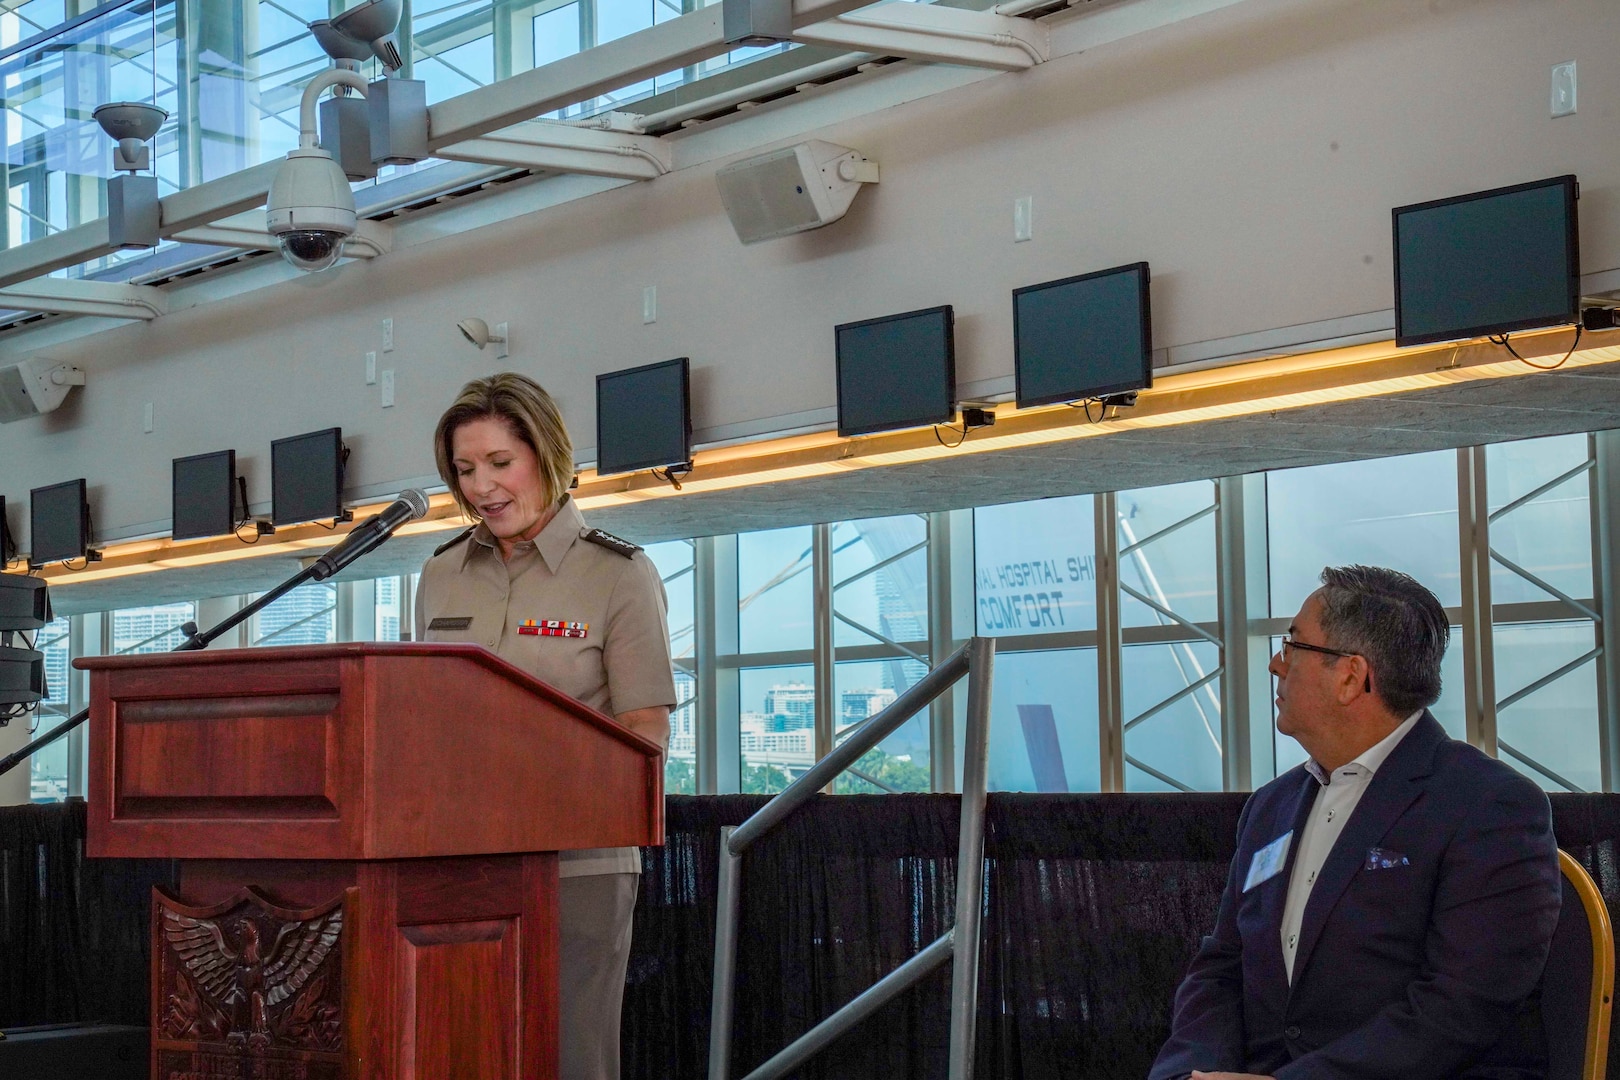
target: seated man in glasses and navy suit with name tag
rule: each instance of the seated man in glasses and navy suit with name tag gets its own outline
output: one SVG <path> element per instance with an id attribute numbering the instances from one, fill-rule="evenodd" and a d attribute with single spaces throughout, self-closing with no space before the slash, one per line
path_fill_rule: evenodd
<path id="1" fill-rule="evenodd" d="M 1270 665 L 1311 761 L 1244 806 L 1152 1080 L 1545 1075 L 1552 816 L 1429 714 L 1448 636 L 1405 573 L 1322 572 Z"/>

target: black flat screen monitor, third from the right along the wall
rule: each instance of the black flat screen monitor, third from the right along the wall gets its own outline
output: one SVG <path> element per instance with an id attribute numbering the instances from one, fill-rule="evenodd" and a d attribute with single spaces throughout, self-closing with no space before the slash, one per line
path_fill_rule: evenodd
<path id="1" fill-rule="evenodd" d="M 954 313 L 846 322 L 838 342 L 838 434 L 944 424 L 956 415 Z"/>

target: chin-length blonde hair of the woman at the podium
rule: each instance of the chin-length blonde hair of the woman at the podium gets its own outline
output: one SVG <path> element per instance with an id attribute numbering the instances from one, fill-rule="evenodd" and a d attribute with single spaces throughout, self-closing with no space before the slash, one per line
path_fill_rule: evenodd
<path id="1" fill-rule="evenodd" d="M 539 458 L 541 495 L 548 507 L 556 505 L 573 483 L 573 442 L 562 423 L 562 410 L 528 376 L 502 371 L 486 379 L 473 379 L 462 387 L 450 408 L 444 410 L 433 434 L 433 457 L 439 466 L 439 478 L 450 489 L 462 513 L 473 521 L 478 520 L 478 512 L 462 495 L 460 478 L 450 461 L 454 457 L 450 442 L 462 424 L 484 418 L 505 421 L 512 434 L 528 444 Z"/>

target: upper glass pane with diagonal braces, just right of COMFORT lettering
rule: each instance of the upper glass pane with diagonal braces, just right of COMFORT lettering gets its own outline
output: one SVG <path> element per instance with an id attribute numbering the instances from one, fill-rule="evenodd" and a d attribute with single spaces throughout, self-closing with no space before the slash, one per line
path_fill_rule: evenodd
<path id="1" fill-rule="evenodd" d="M 1215 505 L 1215 484 L 1200 479 L 1168 487 L 1121 491 L 1119 551 Z M 1119 583 L 1153 597 L 1189 622 L 1218 617 L 1215 594 L 1215 515 L 1207 513 L 1174 533 L 1119 555 Z M 1173 620 L 1129 593 L 1119 593 L 1124 627 L 1162 627 Z"/>

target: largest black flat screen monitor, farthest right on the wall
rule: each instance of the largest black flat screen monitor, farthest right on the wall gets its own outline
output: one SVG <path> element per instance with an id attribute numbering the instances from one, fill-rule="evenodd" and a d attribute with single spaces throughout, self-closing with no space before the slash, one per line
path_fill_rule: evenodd
<path id="1" fill-rule="evenodd" d="M 1581 319 L 1575 176 L 1395 210 L 1395 343 Z"/>

